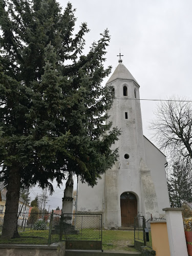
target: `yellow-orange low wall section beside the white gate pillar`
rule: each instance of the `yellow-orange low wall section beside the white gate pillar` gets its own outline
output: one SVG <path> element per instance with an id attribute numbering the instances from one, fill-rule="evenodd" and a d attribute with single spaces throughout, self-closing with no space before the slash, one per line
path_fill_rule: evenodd
<path id="1" fill-rule="evenodd" d="M 151 222 L 151 234 L 156 256 L 170 256 L 166 222 Z"/>

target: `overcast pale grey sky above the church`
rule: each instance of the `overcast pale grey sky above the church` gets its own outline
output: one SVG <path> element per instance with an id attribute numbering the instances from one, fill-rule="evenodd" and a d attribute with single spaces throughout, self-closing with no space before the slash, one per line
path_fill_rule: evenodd
<path id="1" fill-rule="evenodd" d="M 65 8 L 68 1 L 59 0 Z M 141 99 L 167 99 L 192 93 L 192 1 L 191 0 L 71 0 L 76 8 L 76 31 L 82 22 L 91 30 L 86 49 L 108 28 L 111 42 L 106 66 L 112 73 L 123 64 L 140 85 Z M 106 78 L 103 84 L 108 80 Z M 148 122 L 154 119 L 156 101 L 141 101 L 143 134 L 151 139 Z M 35 189 L 35 188 L 34 188 Z M 61 207 L 63 196 L 56 188 L 50 204 Z M 54 208 L 53 207 L 53 208 Z"/>

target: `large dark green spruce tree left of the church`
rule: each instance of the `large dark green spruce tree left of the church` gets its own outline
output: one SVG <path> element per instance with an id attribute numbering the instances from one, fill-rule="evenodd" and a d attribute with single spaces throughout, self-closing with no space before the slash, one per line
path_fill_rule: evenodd
<path id="1" fill-rule="evenodd" d="M 0 1 L 0 180 L 7 185 L 2 238 L 17 233 L 19 189 L 38 183 L 53 191 L 69 172 L 91 186 L 117 159 L 119 131 L 105 125 L 111 89 L 101 81 L 109 34 L 87 56 L 83 23 L 55 0 Z M 13 214 L 14 212 L 14 214 Z"/>

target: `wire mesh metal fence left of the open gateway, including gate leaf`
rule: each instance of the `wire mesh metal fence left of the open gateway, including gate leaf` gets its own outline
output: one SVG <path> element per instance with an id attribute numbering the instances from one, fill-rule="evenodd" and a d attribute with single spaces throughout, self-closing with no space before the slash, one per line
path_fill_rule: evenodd
<path id="1" fill-rule="evenodd" d="M 102 215 L 94 214 L 63 214 L 52 212 L 33 212 L 28 216 L 24 213 L 17 214 L 17 230 L 19 239 L 6 241 L 2 239 L 1 232 L 4 216 L 0 219 L 0 243 L 20 244 L 51 244 L 66 241 L 78 246 L 79 241 L 87 241 L 88 249 L 102 249 Z M 70 244 L 67 243 L 70 241 Z M 76 242 L 76 243 L 75 243 Z M 81 246 L 82 247 L 82 246 Z"/>

